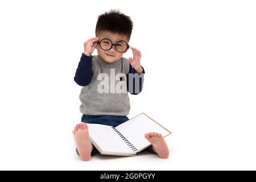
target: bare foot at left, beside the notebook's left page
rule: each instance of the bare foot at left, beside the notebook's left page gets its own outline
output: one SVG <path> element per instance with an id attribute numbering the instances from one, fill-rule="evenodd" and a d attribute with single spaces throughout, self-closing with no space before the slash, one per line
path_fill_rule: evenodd
<path id="1" fill-rule="evenodd" d="M 73 130 L 73 137 L 75 139 L 80 158 L 82 160 L 89 160 L 93 147 L 92 143 L 90 142 L 87 124 L 77 124 Z"/>

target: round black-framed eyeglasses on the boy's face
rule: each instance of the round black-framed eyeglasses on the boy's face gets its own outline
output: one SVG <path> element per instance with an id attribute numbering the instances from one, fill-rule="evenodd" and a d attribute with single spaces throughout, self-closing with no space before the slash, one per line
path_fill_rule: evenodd
<path id="1" fill-rule="evenodd" d="M 117 52 L 122 53 L 122 52 L 125 52 L 130 47 L 129 44 L 125 42 L 125 40 L 119 40 L 116 44 L 113 44 L 110 39 L 104 38 L 97 43 L 100 44 L 100 47 L 104 51 L 109 51 L 112 48 L 112 46 L 115 46 L 115 49 L 117 50 Z"/>

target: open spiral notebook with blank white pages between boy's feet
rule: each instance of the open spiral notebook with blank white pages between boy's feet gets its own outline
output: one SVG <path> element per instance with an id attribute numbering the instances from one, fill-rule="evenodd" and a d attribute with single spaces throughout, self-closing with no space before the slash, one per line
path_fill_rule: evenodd
<path id="1" fill-rule="evenodd" d="M 171 134 L 159 123 L 142 113 L 117 127 L 87 124 L 90 140 L 103 155 L 136 155 L 151 145 L 144 134 L 155 132 L 163 137 Z"/>

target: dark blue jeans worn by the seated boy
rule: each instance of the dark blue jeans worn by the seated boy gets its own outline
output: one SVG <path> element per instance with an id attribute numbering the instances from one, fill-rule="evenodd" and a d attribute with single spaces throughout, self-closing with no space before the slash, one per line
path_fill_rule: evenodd
<path id="1" fill-rule="evenodd" d="M 115 116 L 115 115 L 85 115 L 82 114 L 81 122 L 84 123 L 92 123 L 92 124 L 101 124 L 101 125 L 109 125 L 113 127 L 117 127 L 118 125 L 121 125 L 122 123 L 128 121 L 129 118 L 126 116 Z M 156 154 L 151 146 L 145 148 L 144 150 L 148 150 L 153 154 Z M 76 152 L 79 155 L 79 152 Z M 92 153 L 90 154 L 91 156 L 95 155 L 98 152 L 98 150 L 93 146 Z"/>

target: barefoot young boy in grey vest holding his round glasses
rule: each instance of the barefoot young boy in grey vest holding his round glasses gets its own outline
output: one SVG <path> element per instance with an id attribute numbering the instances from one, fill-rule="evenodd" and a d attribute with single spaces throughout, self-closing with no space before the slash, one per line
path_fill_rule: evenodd
<path id="1" fill-rule="evenodd" d="M 138 94 L 142 90 L 141 52 L 131 47 L 133 59 L 122 57 L 130 48 L 132 29 L 129 16 L 111 10 L 98 16 L 96 38 L 84 43 L 84 53 L 74 78 L 78 85 L 83 86 L 79 97 L 82 123 L 73 130 L 76 151 L 82 160 L 89 160 L 97 152 L 90 142 L 86 123 L 116 127 L 128 121 L 126 115 L 130 111 L 130 101 L 127 91 Z M 98 51 L 97 56 L 92 56 L 94 49 Z M 141 78 L 136 82 L 133 75 L 138 74 Z M 145 138 L 152 143 L 147 150 L 160 158 L 168 158 L 169 150 L 161 134 L 147 133 Z"/>

